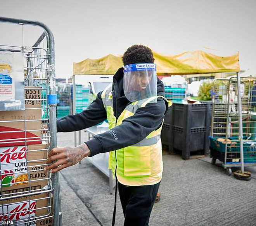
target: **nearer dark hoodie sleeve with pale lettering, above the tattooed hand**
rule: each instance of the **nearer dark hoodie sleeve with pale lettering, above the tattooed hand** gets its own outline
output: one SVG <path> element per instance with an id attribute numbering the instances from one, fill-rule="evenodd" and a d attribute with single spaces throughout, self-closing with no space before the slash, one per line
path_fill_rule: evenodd
<path id="1" fill-rule="evenodd" d="M 91 150 L 91 156 L 140 142 L 161 126 L 167 109 L 168 104 L 162 98 L 158 98 L 156 103 L 138 108 L 135 114 L 123 120 L 121 125 L 85 142 Z"/>

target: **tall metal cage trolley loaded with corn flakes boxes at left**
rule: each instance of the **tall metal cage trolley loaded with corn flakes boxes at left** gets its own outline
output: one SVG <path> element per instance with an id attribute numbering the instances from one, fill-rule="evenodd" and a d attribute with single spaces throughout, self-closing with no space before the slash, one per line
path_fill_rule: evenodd
<path id="1" fill-rule="evenodd" d="M 41 22 L 5 17 L 0 22 L 10 26 L 6 33 L 18 28 L 16 38 L 22 41 L 0 43 L 0 223 L 62 226 L 59 174 L 43 171 L 49 151 L 57 146 L 54 36 Z M 24 27 L 43 29 L 32 46 L 23 44 Z M 22 82 L 14 86 L 19 63 Z"/>

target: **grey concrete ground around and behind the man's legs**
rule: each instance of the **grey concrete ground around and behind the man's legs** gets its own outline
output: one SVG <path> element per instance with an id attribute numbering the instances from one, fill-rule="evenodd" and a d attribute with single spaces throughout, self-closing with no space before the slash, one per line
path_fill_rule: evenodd
<path id="1" fill-rule="evenodd" d="M 73 133 L 58 133 L 59 146 L 74 146 Z M 82 133 L 82 141 L 88 134 Z M 250 181 L 228 176 L 220 162 L 208 157 L 182 160 L 163 155 L 164 172 L 150 226 L 255 226 L 256 167 Z M 59 173 L 63 226 L 110 226 L 114 195 L 109 179 L 88 160 Z M 116 226 L 124 221 L 117 203 Z"/>

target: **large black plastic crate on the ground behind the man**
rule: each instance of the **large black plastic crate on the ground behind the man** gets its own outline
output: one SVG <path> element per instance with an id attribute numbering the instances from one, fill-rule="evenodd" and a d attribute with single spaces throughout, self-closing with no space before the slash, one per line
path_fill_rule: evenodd
<path id="1" fill-rule="evenodd" d="M 182 151 L 182 158 L 189 159 L 190 153 L 209 150 L 211 124 L 211 102 L 203 104 L 173 103 L 164 119 L 161 133 L 162 143 L 169 151 Z"/>

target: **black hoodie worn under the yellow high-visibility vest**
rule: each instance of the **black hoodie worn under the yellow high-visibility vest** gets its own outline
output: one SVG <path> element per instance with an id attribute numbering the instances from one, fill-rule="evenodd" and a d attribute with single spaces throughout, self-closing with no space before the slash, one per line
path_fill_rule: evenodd
<path id="1" fill-rule="evenodd" d="M 57 132 L 78 131 L 97 125 L 107 119 L 101 93 L 99 92 L 92 104 L 81 113 L 58 119 Z M 164 85 L 159 78 L 157 78 L 157 95 L 164 96 Z M 130 103 L 123 91 L 123 68 L 119 68 L 113 77 L 112 96 L 114 116 L 118 119 L 125 107 Z M 135 114 L 123 120 L 121 125 L 86 141 L 85 143 L 91 151 L 90 156 L 140 142 L 161 126 L 167 109 L 168 104 L 163 98 L 158 98 L 156 103 L 149 103 L 145 107 L 138 108 Z"/>

